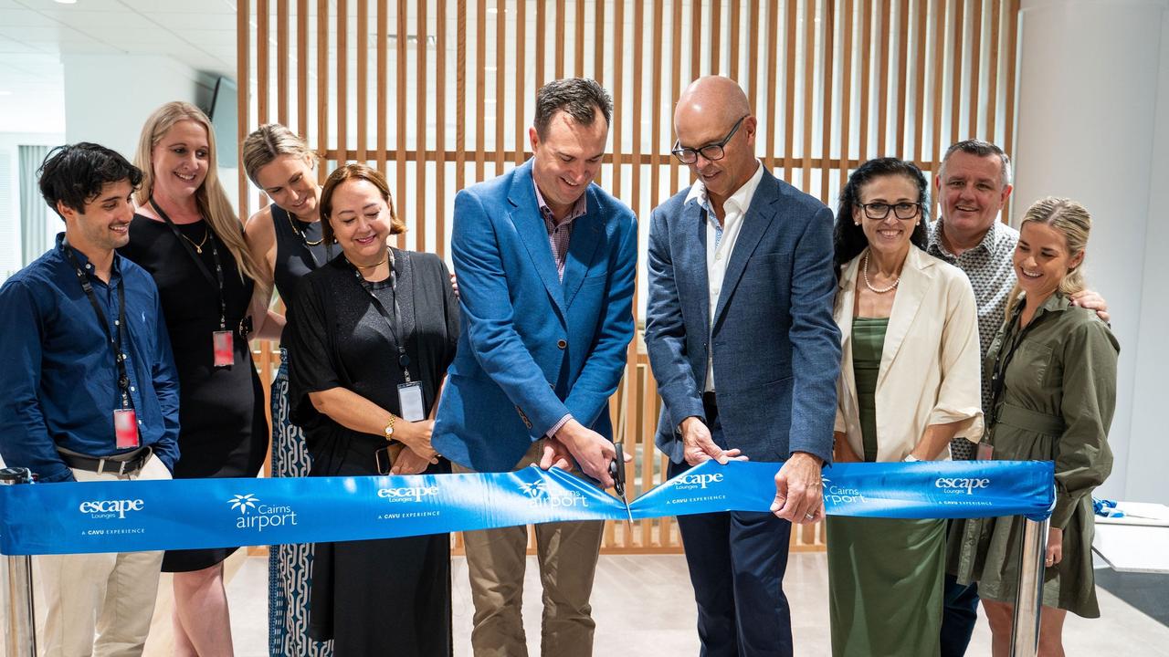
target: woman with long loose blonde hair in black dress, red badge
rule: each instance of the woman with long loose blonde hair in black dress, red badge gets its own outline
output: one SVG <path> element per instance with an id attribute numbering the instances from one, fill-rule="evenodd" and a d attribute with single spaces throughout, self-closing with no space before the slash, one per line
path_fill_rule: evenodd
<path id="1" fill-rule="evenodd" d="M 174 351 L 174 478 L 255 477 L 268 428 L 248 339 L 253 324 L 263 334 L 282 321 L 268 321 L 265 295 L 255 291 L 258 267 L 216 178 L 207 116 L 188 103 L 159 108 L 143 127 L 136 165 L 144 172 L 139 209 L 120 253 L 154 277 Z M 235 549 L 164 556 L 162 570 L 174 573 L 174 655 L 231 655 L 223 560 Z"/>

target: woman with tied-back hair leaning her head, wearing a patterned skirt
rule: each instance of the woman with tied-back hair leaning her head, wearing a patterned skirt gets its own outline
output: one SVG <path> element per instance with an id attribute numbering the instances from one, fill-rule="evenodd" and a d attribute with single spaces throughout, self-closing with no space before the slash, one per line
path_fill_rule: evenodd
<path id="1" fill-rule="evenodd" d="M 300 277 L 328 261 L 317 203 L 317 154 L 291 130 L 262 125 L 243 140 L 243 168 L 271 205 L 248 220 L 248 248 L 261 276 L 285 305 Z M 286 333 L 286 331 L 284 332 Z M 289 420 L 288 340 L 281 334 L 281 366 L 272 380 L 274 477 L 306 477 L 311 462 L 304 431 Z M 268 646 L 271 657 L 328 657 L 331 642 L 309 637 L 309 573 L 312 544 L 274 545 L 268 553 Z"/>

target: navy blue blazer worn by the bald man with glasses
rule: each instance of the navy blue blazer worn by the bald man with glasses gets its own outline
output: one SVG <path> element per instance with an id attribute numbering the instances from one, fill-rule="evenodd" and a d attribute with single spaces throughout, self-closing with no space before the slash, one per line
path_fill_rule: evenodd
<path id="1" fill-rule="evenodd" d="M 762 166 L 762 165 L 761 165 Z M 706 358 L 727 447 L 753 461 L 832 456 L 841 333 L 832 319 L 832 213 L 763 171 L 727 262 L 710 331 L 706 223 L 684 189 L 650 220 L 645 346 L 662 395 L 657 444 L 683 461 L 678 424 L 703 417 Z"/>

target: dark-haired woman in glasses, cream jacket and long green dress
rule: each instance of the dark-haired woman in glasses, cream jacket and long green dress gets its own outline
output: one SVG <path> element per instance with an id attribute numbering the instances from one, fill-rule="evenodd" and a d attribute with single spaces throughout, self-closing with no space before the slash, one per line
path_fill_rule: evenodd
<path id="1" fill-rule="evenodd" d="M 879 158 L 841 192 L 837 463 L 945 459 L 953 437 L 982 436 L 974 290 L 925 251 L 926 189 Z M 945 520 L 829 517 L 832 655 L 936 656 L 945 558 Z"/>

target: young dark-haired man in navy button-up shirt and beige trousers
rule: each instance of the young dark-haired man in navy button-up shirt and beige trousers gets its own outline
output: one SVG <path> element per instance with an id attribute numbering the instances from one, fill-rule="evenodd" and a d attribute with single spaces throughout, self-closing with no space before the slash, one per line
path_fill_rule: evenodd
<path id="1" fill-rule="evenodd" d="M 96 144 L 55 148 L 44 200 L 65 222 L 56 247 L 0 288 L 0 456 L 41 482 L 170 479 L 179 458 L 179 381 L 151 276 L 129 241 L 141 172 Z M 92 502 L 92 504 L 90 504 Z M 140 510 L 87 500 L 62 513 Z M 140 655 L 161 552 L 40 556 L 46 655 Z M 95 638 L 96 635 L 96 638 Z"/>

